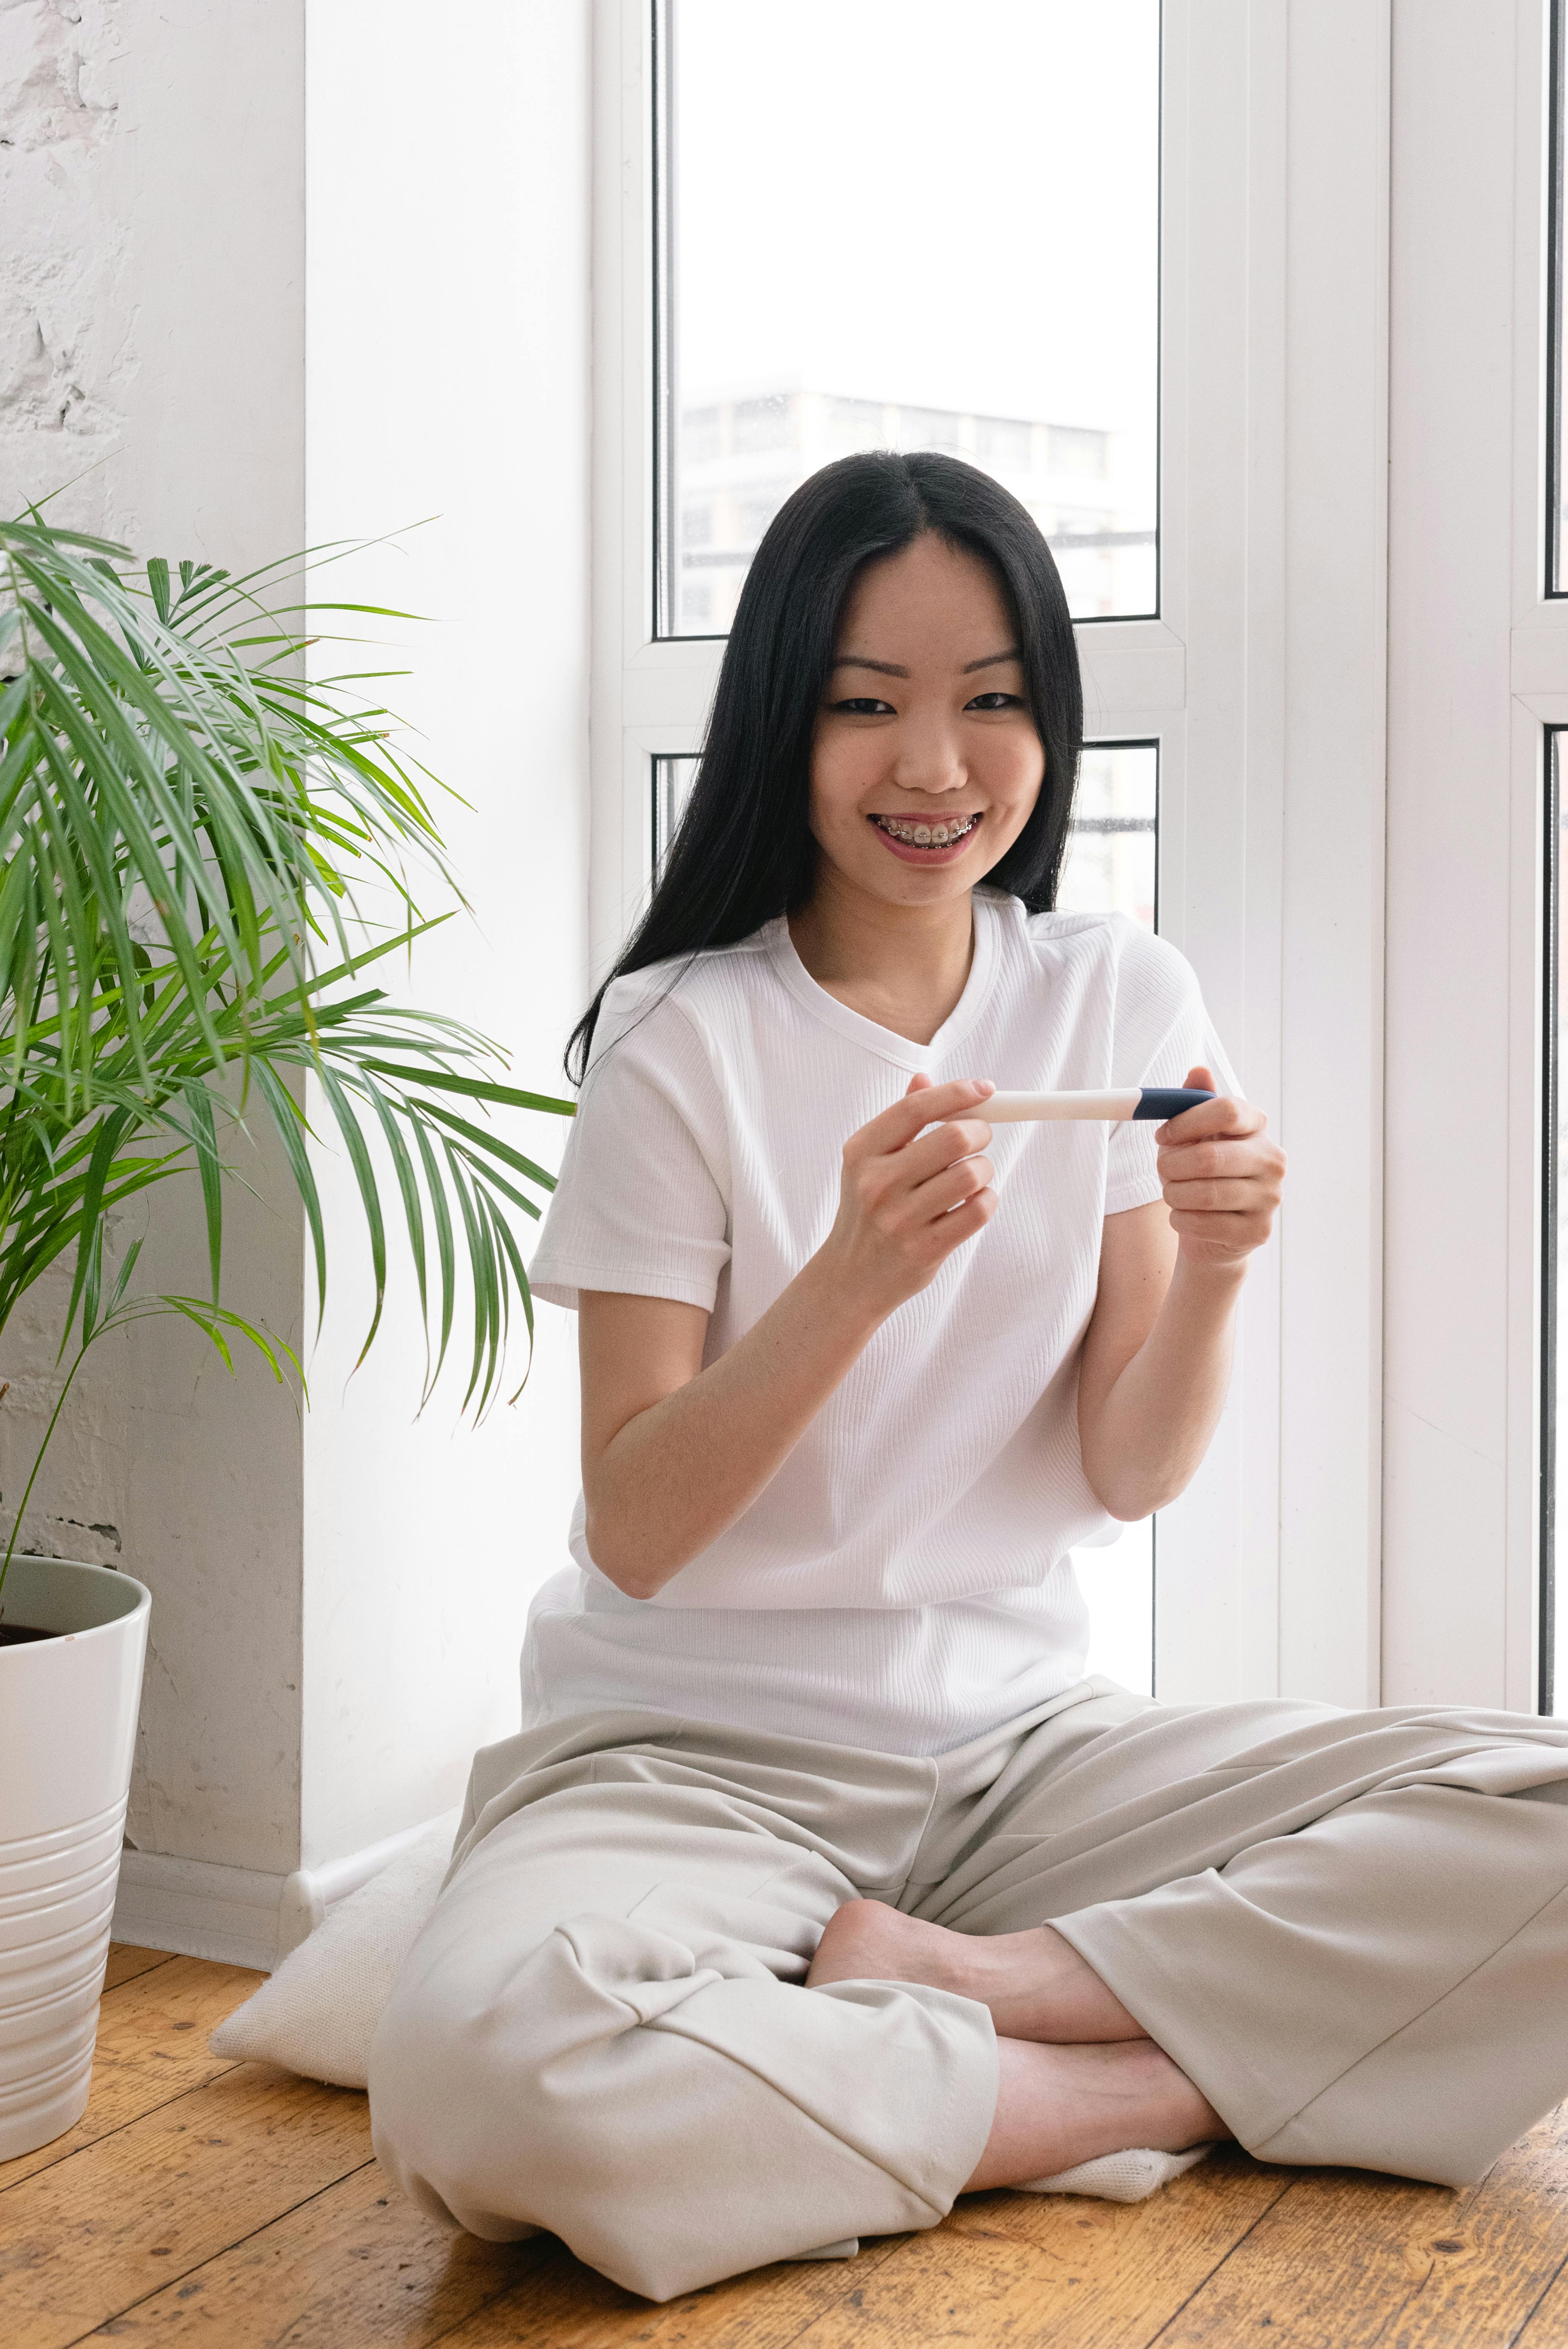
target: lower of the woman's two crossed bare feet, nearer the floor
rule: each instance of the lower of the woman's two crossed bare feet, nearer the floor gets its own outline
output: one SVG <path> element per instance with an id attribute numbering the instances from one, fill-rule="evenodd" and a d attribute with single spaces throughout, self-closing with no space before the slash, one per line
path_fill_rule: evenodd
<path id="1" fill-rule="evenodd" d="M 1054 2178 L 1134 2145 L 1181 2154 L 1230 2135 L 1214 2105 L 1153 2039 L 1122 2046 L 998 2039 L 998 2055 L 995 2119 L 965 2194 Z"/>

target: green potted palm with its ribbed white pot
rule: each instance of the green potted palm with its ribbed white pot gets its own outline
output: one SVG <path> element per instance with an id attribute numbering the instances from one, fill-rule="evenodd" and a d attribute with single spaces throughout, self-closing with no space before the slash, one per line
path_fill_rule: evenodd
<path id="1" fill-rule="evenodd" d="M 425 1395 L 460 1318 L 477 1412 L 502 1391 L 512 1313 L 533 1332 L 516 1231 L 552 1177 L 491 1120 L 570 1104 L 519 1092 L 484 1036 L 366 977 L 434 926 L 415 881 L 453 876 L 364 681 L 305 677 L 305 630 L 364 606 L 277 613 L 298 571 L 138 568 L 38 512 L 0 524 L 0 1346 L 42 1280 L 61 1304 L 59 1393 L 0 1553 L 0 2159 L 87 2102 L 148 1630 L 131 1576 L 19 1550 L 85 1353 L 178 1313 L 230 1367 L 249 1346 L 300 1374 L 223 1297 L 223 1196 L 270 1130 L 319 1313 L 307 1120 L 354 1170 L 366 1348 L 390 1226 L 425 1313 Z M 202 1200 L 200 1297 L 136 1283 L 134 1203 L 176 1179 Z"/>

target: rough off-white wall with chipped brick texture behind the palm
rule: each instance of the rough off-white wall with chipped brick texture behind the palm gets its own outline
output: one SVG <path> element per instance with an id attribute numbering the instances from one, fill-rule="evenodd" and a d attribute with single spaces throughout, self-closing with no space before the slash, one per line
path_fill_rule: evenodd
<path id="1" fill-rule="evenodd" d="M 303 5 L 45 0 L 0 12 L 0 505 L 242 568 L 300 545 Z M 261 1174 L 268 1189 L 265 1172 Z M 195 1214 L 146 1224 L 146 1287 L 204 1287 Z M 298 1214 L 235 1193 L 230 1297 L 298 1334 Z M 14 1503 L 56 1391 L 63 1292 L 0 1346 Z M 99 1532 L 94 1532 L 99 1529 Z M 291 1867 L 298 1849 L 300 1440 L 270 1377 L 188 1327 L 106 1341 L 26 1536 L 153 1588 L 131 1837 Z"/>

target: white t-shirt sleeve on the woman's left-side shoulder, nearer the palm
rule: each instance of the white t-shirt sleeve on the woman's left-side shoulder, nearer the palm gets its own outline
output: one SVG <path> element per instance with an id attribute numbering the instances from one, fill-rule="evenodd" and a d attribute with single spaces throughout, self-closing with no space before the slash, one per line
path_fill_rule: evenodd
<path id="1" fill-rule="evenodd" d="M 730 1261 L 730 1153 L 707 1048 L 641 975 L 606 994 L 561 1179 L 528 1266 L 535 1297 L 671 1297 L 714 1311 Z"/>

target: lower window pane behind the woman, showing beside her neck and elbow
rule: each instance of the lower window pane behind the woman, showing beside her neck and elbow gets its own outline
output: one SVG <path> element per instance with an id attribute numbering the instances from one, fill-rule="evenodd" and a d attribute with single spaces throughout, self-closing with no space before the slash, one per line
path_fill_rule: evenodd
<path id="1" fill-rule="evenodd" d="M 690 752 L 650 759 L 650 841 L 657 874 L 692 787 Z M 1070 914 L 1129 914 L 1148 930 L 1157 911 L 1160 749 L 1087 742 L 1056 902 Z M 1089 1670 L 1124 1689 L 1155 1689 L 1155 1520 L 1075 1553 L 1089 1604 Z"/>

